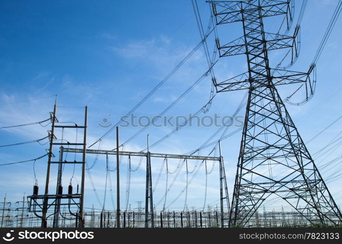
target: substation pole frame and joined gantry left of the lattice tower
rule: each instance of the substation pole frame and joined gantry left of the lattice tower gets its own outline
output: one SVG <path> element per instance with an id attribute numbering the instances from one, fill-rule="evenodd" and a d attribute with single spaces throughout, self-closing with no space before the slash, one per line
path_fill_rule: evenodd
<path id="1" fill-rule="evenodd" d="M 34 191 L 33 195 L 28 196 L 29 199 L 29 212 L 32 212 L 36 217 L 41 219 L 41 227 L 48 227 L 48 218 L 53 216 L 53 224 L 52 227 L 59 227 L 59 223 L 61 222 L 60 219 L 62 217 L 62 223 L 65 219 L 74 221 L 74 224 L 71 224 L 71 226 L 77 226 L 77 227 L 85 227 L 85 214 L 84 214 L 84 198 L 85 198 L 85 164 L 86 164 L 86 154 L 106 154 L 106 155 L 116 155 L 117 157 L 117 210 L 116 210 L 116 220 L 115 220 L 115 227 L 126 227 L 126 212 L 120 211 L 120 168 L 119 168 L 119 156 L 129 156 L 129 157 L 145 157 L 146 158 L 146 199 L 145 199 L 145 219 L 144 219 L 144 227 L 155 227 L 155 218 L 158 218 L 158 223 L 160 225 L 163 225 L 163 215 L 167 216 L 164 217 L 168 219 L 169 225 L 171 222 L 171 218 L 173 218 L 173 225 L 176 226 L 176 219 L 180 218 L 180 222 L 177 221 L 177 223 L 181 223 L 179 226 L 183 226 L 183 213 L 175 213 L 172 214 L 168 213 L 160 213 L 160 216 L 157 215 L 155 211 L 153 210 L 153 195 L 152 195 L 152 177 L 151 177 L 151 158 L 171 158 L 171 159 L 183 159 L 186 160 L 200 160 L 200 161 L 218 161 L 219 162 L 219 182 L 220 182 L 220 210 L 219 210 L 219 217 L 217 216 L 217 211 L 215 211 L 215 214 L 212 213 L 212 216 L 208 212 L 203 212 L 203 218 L 209 219 L 209 225 L 210 220 L 212 218 L 215 218 L 217 221 L 219 220 L 219 223 L 217 222 L 217 226 L 223 227 L 224 221 L 228 220 L 227 212 L 224 212 L 224 200 L 226 200 L 226 206 L 229 209 L 229 196 L 228 196 L 228 188 L 227 188 L 227 182 L 226 182 L 226 174 L 224 169 L 224 163 L 223 163 L 223 157 L 221 154 L 221 144 L 219 142 L 219 151 L 220 156 L 219 157 L 209 157 L 209 156 L 193 156 L 193 155 L 176 155 L 176 154 L 161 154 L 161 153 L 151 153 L 149 150 L 149 136 L 147 140 L 148 149 L 147 152 L 127 152 L 127 151 L 120 151 L 119 150 L 119 131 L 118 127 L 116 127 L 116 142 L 117 142 L 117 150 L 89 150 L 86 149 L 86 128 L 87 128 L 87 106 L 85 106 L 85 122 L 84 125 L 59 125 L 57 117 L 57 104 L 54 106 L 54 111 L 51 112 L 51 118 L 52 118 L 52 125 L 51 125 L 51 131 L 49 132 L 49 138 L 50 138 L 50 147 L 48 150 L 48 162 L 47 162 L 47 173 L 46 173 L 46 183 L 45 183 L 45 192 L 43 195 L 38 195 L 38 185 L 34 185 Z M 55 131 L 56 129 L 64 129 L 64 128 L 77 128 L 77 129 L 83 129 L 84 130 L 84 137 L 82 143 L 77 142 L 64 142 L 64 140 L 60 140 L 61 142 L 57 142 L 57 138 L 55 137 Z M 56 141 L 56 142 L 55 142 Z M 60 155 L 59 155 L 59 161 L 52 161 L 52 159 L 55 157 L 53 155 L 53 146 L 59 145 L 60 146 Z M 67 147 L 64 147 L 66 146 Z M 70 146 L 76 145 L 76 146 L 82 146 L 83 149 L 80 148 L 70 148 Z M 72 153 L 80 153 L 82 154 L 82 161 L 65 161 L 63 160 L 63 154 L 67 152 Z M 117 153 L 118 152 L 118 153 Z M 70 184 L 68 186 L 68 192 L 67 194 L 63 194 L 63 187 L 62 187 L 62 171 L 63 171 L 63 165 L 64 164 L 82 164 L 82 176 L 81 176 L 81 191 L 79 193 L 79 189 L 77 186 L 77 192 L 73 193 L 73 187 Z M 57 184 L 56 184 L 56 194 L 49 194 L 48 188 L 49 188 L 49 179 L 50 179 L 50 168 L 51 164 L 58 164 L 58 175 L 57 175 Z M 67 212 L 65 213 L 65 207 L 67 209 Z M 52 210 L 53 209 L 53 210 Z M 184 213 L 185 214 L 185 213 Z M 123 215 L 123 216 L 121 216 Z M 130 224 L 129 219 L 133 218 L 133 222 L 135 222 L 135 215 L 140 216 L 139 213 L 127 213 L 128 216 L 128 225 Z M 189 213 L 188 213 L 189 215 Z M 95 216 L 95 214 L 93 214 Z M 102 219 L 106 219 L 109 223 L 109 219 L 113 217 L 113 213 L 110 214 L 108 211 L 106 214 L 105 212 L 101 212 L 101 226 L 102 226 Z M 189 215 L 190 216 L 190 215 Z M 208 217 L 205 217 L 208 216 Z M 95 218 L 95 217 L 94 217 Z M 139 217 L 140 218 L 140 217 Z M 190 218 L 190 217 L 189 217 Z M 189 219 L 188 218 L 188 219 Z M 195 218 L 197 219 L 197 212 L 195 212 Z M 123 223 L 121 222 L 123 220 Z M 188 220 L 188 222 L 190 219 Z M 202 223 L 202 212 L 199 212 L 198 215 L 198 223 L 199 226 L 204 226 Z M 107 225 L 109 226 L 109 224 Z M 196 221 L 197 223 L 197 221 Z M 212 223 L 214 223 L 214 220 L 212 220 Z M 112 226 L 112 225 L 111 225 Z M 130 226 L 134 226 L 130 225 Z M 164 225 L 166 226 L 166 225 Z"/>

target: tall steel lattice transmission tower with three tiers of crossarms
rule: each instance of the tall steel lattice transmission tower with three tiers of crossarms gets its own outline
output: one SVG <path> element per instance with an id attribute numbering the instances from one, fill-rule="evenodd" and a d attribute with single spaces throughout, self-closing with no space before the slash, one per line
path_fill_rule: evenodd
<path id="1" fill-rule="evenodd" d="M 297 209 L 311 224 L 335 225 L 342 221 L 320 172 L 299 136 L 276 85 L 312 84 L 308 72 L 271 69 L 270 50 L 296 52 L 299 26 L 293 36 L 264 31 L 264 18 L 284 15 L 292 21 L 290 0 L 209 1 L 216 24 L 241 22 L 243 36 L 216 45 L 220 57 L 245 54 L 248 72 L 223 82 L 217 92 L 248 89 L 248 103 L 237 163 L 230 226 L 248 226 L 249 219 L 271 195 Z M 272 173 L 272 168 L 277 172 Z M 266 171 L 266 172 L 265 172 Z"/>

